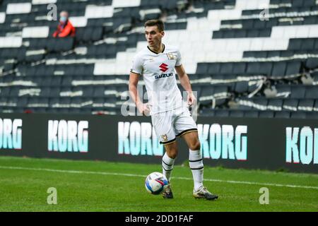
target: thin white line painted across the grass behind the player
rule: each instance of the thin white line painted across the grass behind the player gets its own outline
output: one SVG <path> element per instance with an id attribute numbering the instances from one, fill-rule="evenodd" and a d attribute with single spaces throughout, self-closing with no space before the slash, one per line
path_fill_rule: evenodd
<path id="1" fill-rule="evenodd" d="M 116 172 L 96 172 L 96 171 L 79 171 L 79 170 L 64 170 L 64 169 L 44 169 L 44 168 L 30 168 L 30 167 L 9 167 L 1 166 L 0 169 L 22 169 L 22 170 L 35 170 L 35 171 L 46 171 L 46 172 L 63 172 L 71 174 L 100 174 L 100 175 L 112 175 L 112 176 L 124 176 L 124 177 L 143 177 L 146 178 L 146 175 L 141 174 L 122 174 Z M 188 177 L 172 177 L 173 179 L 184 179 L 184 180 L 193 180 Z M 271 183 L 259 183 L 259 182 L 242 182 L 242 181 L 231 181 L 231 180 L 222 180 L 222 179 L 204 179 L 206 182 L 220 182 L 228 184 L 252 184 L 252 185 L 261 185 L 261 186 L 283 186 L 296 189 L 316 189 L 318 186 L 301 186 L 295 184 L 271 184 Z"/>

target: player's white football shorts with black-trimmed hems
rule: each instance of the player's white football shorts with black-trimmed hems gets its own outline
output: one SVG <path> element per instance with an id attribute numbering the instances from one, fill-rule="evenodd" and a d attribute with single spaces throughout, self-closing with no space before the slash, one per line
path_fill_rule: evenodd
<path id="1" fill-rule="evenodd" d="M 163 145 L 175 142 L 176 137 L 185 133 L 198 131 L 196 123 L 186 107 L 153 114 L 151 121 L 155 133 Z"/>

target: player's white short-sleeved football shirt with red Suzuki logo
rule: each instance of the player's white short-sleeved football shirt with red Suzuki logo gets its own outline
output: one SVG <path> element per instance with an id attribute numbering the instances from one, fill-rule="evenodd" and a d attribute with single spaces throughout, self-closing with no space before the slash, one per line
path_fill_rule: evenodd
<path id="1" fill-rule="evenodd" d="M 147 46 L 134 57 L 131 72 L 143 76 L 151 114 L 182 107 L 182 95 L 175 78 L 175 66 L 181 64 L 179 50 L 169 45 L 164 45 L 158 54 Z"/>

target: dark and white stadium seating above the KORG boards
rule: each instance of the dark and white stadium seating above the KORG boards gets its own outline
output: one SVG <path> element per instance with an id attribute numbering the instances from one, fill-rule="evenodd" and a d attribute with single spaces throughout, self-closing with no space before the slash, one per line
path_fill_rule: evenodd
<path id="1" fill-rule="evenodd" d="M 76 37 L 52 38 L 50 3 Z M 143 23 L 163 18 L 200 115 L 317 119 L 317 13 L 315 0 L 0 1 L 0 111 L 120 114 Z"/>

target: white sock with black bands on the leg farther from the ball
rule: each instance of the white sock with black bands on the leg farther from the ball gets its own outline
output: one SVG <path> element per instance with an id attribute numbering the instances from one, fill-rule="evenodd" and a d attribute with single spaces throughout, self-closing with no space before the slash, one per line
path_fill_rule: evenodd
<path id="1" fill-rule="evenodd" d="M 200 150 L 189 150 L 189 165 L 193 175 L 194 190 L 203 187 L 204 164 Z"/>

